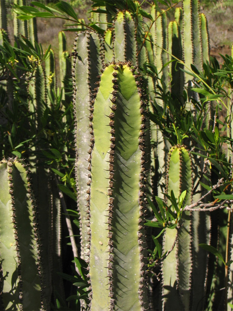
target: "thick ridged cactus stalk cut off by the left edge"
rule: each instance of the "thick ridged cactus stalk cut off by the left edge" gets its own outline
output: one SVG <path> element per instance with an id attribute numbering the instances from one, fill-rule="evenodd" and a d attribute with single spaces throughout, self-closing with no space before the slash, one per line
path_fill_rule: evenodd
<path id="1" fill-rule="evenodd" d="M 26 165 L 0 162 L 1 299 L 6 310 L 41 310 L 41 264 L 34 197 Z"/>

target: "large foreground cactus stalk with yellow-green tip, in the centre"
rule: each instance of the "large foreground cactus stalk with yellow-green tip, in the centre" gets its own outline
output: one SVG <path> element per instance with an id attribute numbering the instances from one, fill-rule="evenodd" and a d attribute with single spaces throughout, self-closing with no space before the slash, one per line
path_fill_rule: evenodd
<path id="1" fill-rule="evenodd" d="M 126 62 L 106 67 L 94 103 L 89 263 L 92 310 L 148 308 L 143 227 L 145 116 L 134 70 Z"/>

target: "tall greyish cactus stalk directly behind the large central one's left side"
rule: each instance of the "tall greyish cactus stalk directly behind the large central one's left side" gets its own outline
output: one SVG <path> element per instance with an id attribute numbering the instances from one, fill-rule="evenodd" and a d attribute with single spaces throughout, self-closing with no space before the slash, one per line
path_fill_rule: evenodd
<path id="1" fill-rule="evenodd" d="M 73 58 L 73 104 L 76 118 L 76 180 L 78 193 L 78 209 L 80 212 L 81 258 L 89 260 L 89 193 L 90 193 L 90 154 L 93 140 L 89 129 L 89 109 L 97 92 L 97 75 L 100 70 L 100 41 L 98 35 L 80 33 L 75 39 Z M 91 66 L 91 67 L 90 67 Z M 92 70 L 90 71 L 90 68 Z"/>

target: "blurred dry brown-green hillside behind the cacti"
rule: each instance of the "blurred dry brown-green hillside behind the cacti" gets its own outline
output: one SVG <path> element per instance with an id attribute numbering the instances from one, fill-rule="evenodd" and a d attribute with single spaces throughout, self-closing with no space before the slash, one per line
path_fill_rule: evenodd
<path id="1" fill-rule="evenodd" d="M 4 0 L 1 0 L 4 1 Z M 113 0 L 114 1 L 114 0 Z M 13 0 L 6 0 L 8 4 L 8 17 L 12 20 L 12 25 L 9 24 L 9 32 L 13 30 L 13 12 L 11 4 Z M 30 1 L 29 1 L 30 2 Z M 52 4 L 56 1 L 40 0 L 44 4 Z M 87 12 L 91 9 L 91 0 L 67 0 L 77 12 L 79 18 L 84 18 L 88 21 L 90 14 Z M 178 6 L 181 4 L 178 4 Z M 222 58 L 219 53 L 231 54 L 231 46 L 233 44 L 233 1 L 232 0 L 200 0 L 200 10 L 205 13 L 210 35 L 211 56 L 215 56 L 219 62 Z M 173 11 L 174 12 L 174 11 Z M 173 12 L 168 12 L 168 18 L 172 19 Z M 43 48 L 46 49 L 49 44 L 55 54 L 58 52 L 58 32 L 65 29 L 64 20 L 51 18 L 37 18 L 38 39 Z M 74 32 L 66 32 L 67 49 L 72 50 L 73 41 L 75 38 Z M 12 35 L 13 39 L 13 35 Z"/>

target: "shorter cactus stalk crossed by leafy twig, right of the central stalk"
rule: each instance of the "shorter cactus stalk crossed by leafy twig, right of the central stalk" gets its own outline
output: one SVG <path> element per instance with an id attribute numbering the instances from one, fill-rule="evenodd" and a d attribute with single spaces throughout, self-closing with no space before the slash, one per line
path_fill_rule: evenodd
<path id="1" fill-rule="evenodd" d="M 172 147 L 169 152 L 167 170 L 167 193 L 173 190 L 176 198 L 184 190 L 187 191 L 186 202 L 192 197 L 192 168 L 188 151 L 184 146 Z M 180 174 L 178 174 L 180 172 Z M 184 216 L 184 217 L 183 217 Z M 190 215 L 183 213 L 185 220 L 179 229 L 178 243 L 162 263 L 163 285 L 162 299 L 164 310 L 189 310 L 191 289 L 191 234 Z M 171 249 L 176 239 L 175 229 L 166 229 L 163 241 L 163 251 Z"/>

